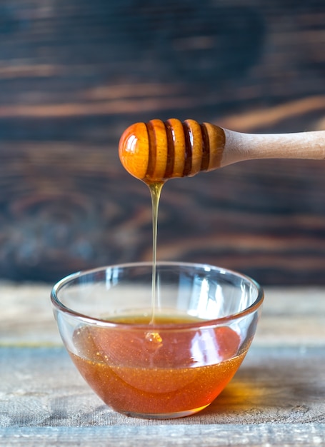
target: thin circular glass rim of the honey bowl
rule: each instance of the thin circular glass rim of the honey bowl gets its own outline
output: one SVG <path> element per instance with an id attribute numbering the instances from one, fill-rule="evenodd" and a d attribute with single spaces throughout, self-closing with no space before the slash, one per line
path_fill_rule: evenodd
<path id="1" fill-rule="evenodd" d="M 255 281 L 253 278 L 251 278 L 248 275 L 245 275 L 244 273 L 240 273 L 239 271 L 231 270 L 229 268 L 214 266 L 209 263 L 194 263 L 194 262 L 181 262 L 181 261 L 157 261 L 156 262 L 156 268 L 159 268 L 159 266 L 184 266 L 184 267 L 196 267 L 201 268 L 206 271 L 218 271 L 221 274 L 229 274 L 231 276 L 236 276 L 237 278 L 242 278 L 248 283 L 251 283 L 257 291 L 257 296 L 253 303 L 251 303 L 250 306 L 244 308 L 242 311 L 236 312 L 236 313 L 230 313 L 227 316 L 223 316 L 220 318 L 211 318 L 211 319 L 199 319 L 198 321 L 189 322 L 189 323 L 155 323 L 154 326 L 151 323 L 121 323 L 119 321 L 113 321 L 109 319 L 101 319 L 96 318 L 93 316 L 88 316 L 84 313 L 74 311 L 74 309 L 69 308 L 68 306 L 65 306 L 64 303 L 62 303 L 59 300 L 58 292 L 66 286 L 71 281 L 74 281 L 76 278 L 80 278 L 81 276 L 86 276 L 89 274 L 98 273 L 100 271 L 106 271 L 108 268 L 131 268 L 131 267 L 151 267 L 153 266 L 152 261 L 139 261 L 139 262 L 129 262 L 129 263 L 116 263 L 106 266 L 100 266 L 96 268 L 90 268 L 87 270 L 81 270 L 76 271 L 75 273 L 70 273 L 67 276 L 64 276 L 64 278 L 61 278 L 59 281 L 57 281 L 54 286 L 51 288 L 51 303 L 52 306 L 57 310 L 61 311 L 65 314 L 68 314 L 69 316 L 73 316 L 74 318 L 78 318 L 79 321 L 84 323 L 90 323 L 95 326 L 104 326 L 104 327 L 118 327 L 118 328 L 132 328 L 136 329 L 139 328 L 143 330 L 144 328 L 152 328 L 154 327 L 159 328 L 160 330 L 174 330 L 175 328 L 198 328 L 198 326 L 201 327 L 209 327 L 209 326 L 223 326 L 225 323 L 229 323 L 230 321 L 237 320 L 239 318 L 242 318 L 246 315 L 249 315 L 250 313 L 254 313 L 258 308 L 261 307 L 261 304 L 264 301 L 264 289 L 261 287 L 261 285 Z"/>

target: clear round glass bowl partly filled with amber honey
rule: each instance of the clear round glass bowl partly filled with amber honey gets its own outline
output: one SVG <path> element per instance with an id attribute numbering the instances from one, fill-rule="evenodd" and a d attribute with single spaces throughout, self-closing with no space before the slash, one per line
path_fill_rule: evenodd
<path id="1" fill-rule="evenodd" d="M 177 418 L 214 401 L 251 345 L 264 293 L 225 268 L 159 262 L 105 266 L 61 279 L 54 315 L 72 361 L 111 408 Z"/>

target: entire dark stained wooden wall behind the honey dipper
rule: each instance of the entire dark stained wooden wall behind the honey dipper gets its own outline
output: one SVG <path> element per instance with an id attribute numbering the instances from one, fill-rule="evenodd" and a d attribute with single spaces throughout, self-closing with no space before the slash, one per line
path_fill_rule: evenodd
<path id="1" fill-rule="evenodd" d="M 1 0 L 0 277 L 56 281 L 151 259 L 134 121 L 325 129 L 323 0 Z M 325 284 L 325 161 L 246 161 L 169 181 L 159 258 L 263 285 Z"/>

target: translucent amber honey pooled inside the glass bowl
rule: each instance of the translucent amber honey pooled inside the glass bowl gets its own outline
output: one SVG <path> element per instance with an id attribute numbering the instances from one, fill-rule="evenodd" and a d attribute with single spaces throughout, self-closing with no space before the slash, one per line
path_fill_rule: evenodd
<path id="1" fill-rule="evenodd" d="M 186 416 L 218 396 L 246 354 L 245 349 L 237 355 L 241 339 L 236 331 L 226 326 L 184 329 L 184 323 L 194 321 L 189 318 L 156 316 L 159 331 L 156 325 L 150 330 L 131 326 L 147 324 L 147 317 L 115 320 L 131 323 L 123 327 L 81 326 L 74 332 L 71 358 L 116 411 Z"/>

